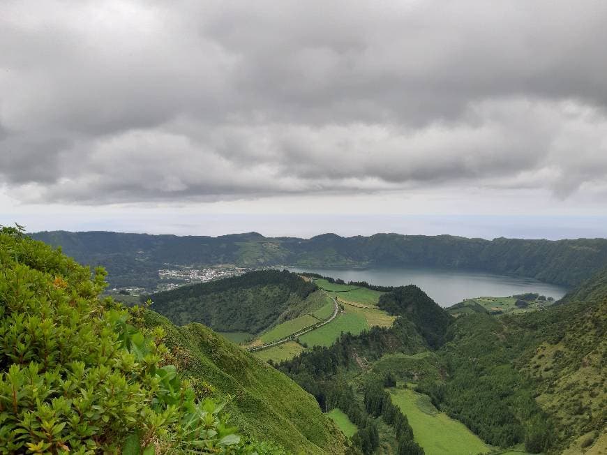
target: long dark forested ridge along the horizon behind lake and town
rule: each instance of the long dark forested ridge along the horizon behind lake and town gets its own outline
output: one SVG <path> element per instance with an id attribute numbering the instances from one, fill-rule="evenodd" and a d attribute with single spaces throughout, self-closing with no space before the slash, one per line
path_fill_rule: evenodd
<path id="1" fill-rule="evenodd" d="M 103 265 L 112 285 L 152 288 L 169 265 L 238 267 L 440 267 L 526 276 L 577 285 L 607 266 L 607 239 L 467 239 L 451 235 L 375 234 L 311 239 L 264 237 L 257 232 L 219 237 L 121 232 L 36 232 L 79 262 Z"/>

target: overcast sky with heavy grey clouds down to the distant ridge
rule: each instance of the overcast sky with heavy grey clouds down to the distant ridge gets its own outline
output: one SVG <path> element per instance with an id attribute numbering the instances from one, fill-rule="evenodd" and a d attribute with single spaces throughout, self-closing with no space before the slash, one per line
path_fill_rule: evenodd
<path id="1" fill-rule="evenodd" d="M 0 224 L 607 237 L 604 0 L 0 2 Z"/>

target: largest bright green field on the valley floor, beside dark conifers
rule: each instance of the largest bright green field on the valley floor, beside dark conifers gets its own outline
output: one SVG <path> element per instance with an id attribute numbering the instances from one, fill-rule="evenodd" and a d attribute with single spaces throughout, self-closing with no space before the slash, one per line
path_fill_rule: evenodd
<path id="1" fill-rule="evenodd" d="M 438 412 L 426 395 L 410 389 L 390 391 L 392 401 L 407 416 L 415 441 L 427 455 L 477 455 L 491 451 L 464 424 Z"/>

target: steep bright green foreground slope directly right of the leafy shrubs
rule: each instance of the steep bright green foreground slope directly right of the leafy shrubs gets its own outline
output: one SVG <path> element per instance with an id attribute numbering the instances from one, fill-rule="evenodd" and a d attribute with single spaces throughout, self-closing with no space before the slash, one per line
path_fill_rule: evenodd
<path id="1" fill-rule="evenodd" d="M 167 332 L 175 364 L 211 396 L 230 400 L 231 422 L 241 433 L 273 440 L 299 454 L 341 454 L 343 434 L 322 414 L 310 394 L 287 376 L 200 324 L 176 327 L 158 313 L 145 313 L 147 327 Z"/>

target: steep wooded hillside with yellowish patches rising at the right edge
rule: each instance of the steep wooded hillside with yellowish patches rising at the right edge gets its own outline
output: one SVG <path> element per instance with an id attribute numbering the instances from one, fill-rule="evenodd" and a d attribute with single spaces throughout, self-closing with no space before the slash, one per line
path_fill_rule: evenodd
<path id="1" fill-rule="evenodd" d="M 492 444 L 590 447 L 607 417 L 604 278 L 544 311 L 460 315 L 437 352 L 448 375 L 420 389 Z"/>

